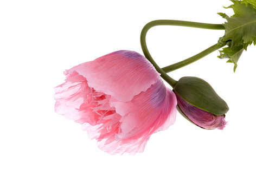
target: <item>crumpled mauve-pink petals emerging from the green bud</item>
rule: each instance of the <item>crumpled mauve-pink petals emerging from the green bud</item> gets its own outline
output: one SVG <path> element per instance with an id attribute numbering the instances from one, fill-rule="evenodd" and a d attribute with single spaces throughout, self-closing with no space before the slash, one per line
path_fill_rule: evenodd
<path id="1" fill-rule="evenodd" d="M 225 125 L 227 125 L 225 115 L 214 115 L 203 111 L 182 99 L 177 93 L 175 94 L 177 97 L 178 107 L 180 107 L 185 116 L 194 122 L 194 124 L 205 129 L 223 129 L 225 128 Z"/>

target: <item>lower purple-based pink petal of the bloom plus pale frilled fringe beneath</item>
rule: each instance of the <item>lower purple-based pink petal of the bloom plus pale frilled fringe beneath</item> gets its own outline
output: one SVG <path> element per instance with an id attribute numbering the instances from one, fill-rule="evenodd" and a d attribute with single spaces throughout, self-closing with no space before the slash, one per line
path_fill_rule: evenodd
<path id="1" fill-rule="evenodd" d="M 161 79 L 130 102 L 112 100 L 111 106 L 120 115 L 119 126 L 98 139 L 99 148 L 111 154 L 143 152 L 151 134 L 174 124 L 176 105 L 174 92 L 166 88 Z"/>

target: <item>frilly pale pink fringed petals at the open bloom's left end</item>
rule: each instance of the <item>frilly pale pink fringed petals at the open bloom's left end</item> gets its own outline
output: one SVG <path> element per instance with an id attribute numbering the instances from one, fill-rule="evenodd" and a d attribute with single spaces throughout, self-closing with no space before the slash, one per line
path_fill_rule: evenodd
<path id="1" fill-rule="evenodd" d="M 66 73 L 66 82 L 55 87 L 55 112 L 75 122 L 91 125 L 103 123 L 103 116 L 112 114 L 111 96 L 89 87 L 85 77 L 76 72 Z"/>

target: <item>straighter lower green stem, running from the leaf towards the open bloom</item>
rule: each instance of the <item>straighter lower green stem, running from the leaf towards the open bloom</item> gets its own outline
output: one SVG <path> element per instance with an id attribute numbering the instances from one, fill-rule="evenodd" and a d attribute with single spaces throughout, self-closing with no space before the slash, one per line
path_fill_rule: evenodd
<path id="1" fill-rule="evenodd" d="M 212 47 L 209 47 L 206 50 L 203 50 L 199 54 L 196 54 L 192 57 L 189 57 L 188 59 L 185 59 L 181 62 L 177 62 L 175 64 L 171 64 L 170 66 L 164 67 L 164 68 L 162 68 L 162 70 L 165 73 L 172 72 L 172 71 L 174 71 L 178 68 L 182 68 L 184 66 L 187 66 L 190 63 L 193 63 L 197 60 L 200 60 L 202 57 L 207 56 L 208 54 L 212 53 L 213 51 L 216 51 L 217 49 L 220 49 L 220 48 L 224 47 L 225 45 L 226 45 L 226 42 L 222 43 L 222 44 L 217 43 L 217 44 L 213 45 Z"/>

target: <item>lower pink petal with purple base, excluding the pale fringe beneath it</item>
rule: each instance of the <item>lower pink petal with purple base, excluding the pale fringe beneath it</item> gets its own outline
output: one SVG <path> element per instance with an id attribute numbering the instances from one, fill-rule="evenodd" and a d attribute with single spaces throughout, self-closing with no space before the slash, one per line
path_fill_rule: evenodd
<path id="1" fill-rule="evenodd" d="M 175 122 L 177 105 L 175 94 L 164 86 L 160 78 L 155 85 L 146 92 L 136 95 L 130 102 L 113 101 L 111 105 L 122 116 L 120 119 L 122 132 L 117 134 L 119 139 L 134 137 L 149 129 L 155 131 L 165 122 L 169 127 Z"/>

